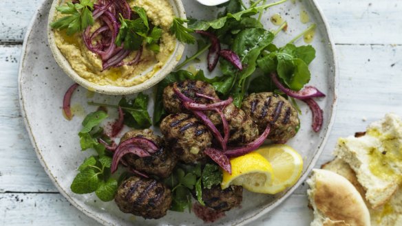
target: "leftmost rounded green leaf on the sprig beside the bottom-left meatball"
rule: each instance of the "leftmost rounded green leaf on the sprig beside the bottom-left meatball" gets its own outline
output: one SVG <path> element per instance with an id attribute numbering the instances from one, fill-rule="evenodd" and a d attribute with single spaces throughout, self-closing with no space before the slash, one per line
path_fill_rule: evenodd
<path id="1" fill-rule="evenodd" d="M 96 191 L 98 183 L 98 173 L 94 168 L 87 168 L 76 175 L 70 188 L 76 194 L 87 194 Z"/>

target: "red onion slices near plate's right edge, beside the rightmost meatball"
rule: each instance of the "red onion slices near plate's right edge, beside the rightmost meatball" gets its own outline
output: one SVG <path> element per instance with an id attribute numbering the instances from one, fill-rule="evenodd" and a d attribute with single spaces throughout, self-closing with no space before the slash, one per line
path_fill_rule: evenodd
<path id="1" fill-rule="evenodd" d="M 315 100 L 313 100 L 312 98 L 325 97 L 326 95 L 312 86 L 306 86 L 304 87 L 304 89 L 301 89 L 301 91 L 293 91 L 291 89 L 288 89 L 281 82 L 279 82 L 277 74 L 275 73 L 271 74 L 271 80 L 286 95 L 302 100 L 306 104 L 308 104 L 313 113 L 313 131 L 315 131 L 316 133 L 320 131 L 324 121 L 324 117 L 322 114 L 323 111 L 321 110 L 317 102 L 315 102 Z"/>

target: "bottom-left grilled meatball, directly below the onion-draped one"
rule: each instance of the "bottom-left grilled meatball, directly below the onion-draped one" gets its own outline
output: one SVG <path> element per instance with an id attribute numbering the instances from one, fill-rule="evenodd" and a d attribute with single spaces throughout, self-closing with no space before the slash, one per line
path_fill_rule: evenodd
<path id="1" fill-rule="evenodd" d="M 118 187 L 114 201 L 122 212 L 158 219 L 170 208 L 171 190 L 155 179 L 130 177 Z"/>

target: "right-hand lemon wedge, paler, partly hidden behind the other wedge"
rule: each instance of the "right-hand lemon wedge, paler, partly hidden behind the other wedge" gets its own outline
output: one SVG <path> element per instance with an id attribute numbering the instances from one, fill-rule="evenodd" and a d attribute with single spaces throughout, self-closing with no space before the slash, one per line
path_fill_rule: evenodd
<path id="1" fill-rule="evenodd" d="M 294 185 L 303 170 L 303 159 L 297 151 L 286 144 L 263 146 L 255 152 L 267 159 L 275 175 L 266 193 L 276 194 Z"/>

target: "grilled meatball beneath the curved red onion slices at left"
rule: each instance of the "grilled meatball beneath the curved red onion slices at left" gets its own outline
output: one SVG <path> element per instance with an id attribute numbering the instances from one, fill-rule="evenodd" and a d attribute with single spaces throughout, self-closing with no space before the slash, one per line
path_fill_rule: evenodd
<path id="1" fill-rule="evenodd" d="M 151 130 L 145 129 L 143 131 L 129 131 L 125 133 L 120 142 L 124 142 L 126 139 L 133 137 L 149 139 L 151 142 L 154 142 L 160 150 L 149 157 L 142 158 L 129 153 L 123 157 L 123 161 L 140 172 L 145 172 L 161 178 L 168 177 L 176 166 L 177 160 L 173 153 L 165 148 L 162 138 L 154 135 Z"/>

